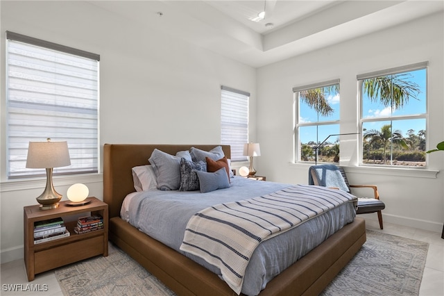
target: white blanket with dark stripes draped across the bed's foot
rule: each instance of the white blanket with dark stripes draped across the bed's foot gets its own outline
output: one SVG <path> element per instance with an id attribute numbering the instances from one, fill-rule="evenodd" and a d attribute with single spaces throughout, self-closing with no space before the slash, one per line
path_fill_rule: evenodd
<path id="1" fill-rule="evenodd" d="M 238 295 L 250 256 L 263 240 L 357 198 L 321 186 L 297 185 L 268 195 L 205 208 L 187 224 L 180 246 L 221 270 Z"/>

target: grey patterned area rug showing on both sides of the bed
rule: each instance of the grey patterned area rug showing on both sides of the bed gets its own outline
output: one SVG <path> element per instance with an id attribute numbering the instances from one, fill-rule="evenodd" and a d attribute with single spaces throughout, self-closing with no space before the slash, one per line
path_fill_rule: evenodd
<path id="1" fill-rule="evenodd" d="M 427 242 L 377 231 L 321 295 L 418 295 Z M 97 256 L 56 270 L 63 295 L 175 295 L 162 282 L 110 244 Z"/>

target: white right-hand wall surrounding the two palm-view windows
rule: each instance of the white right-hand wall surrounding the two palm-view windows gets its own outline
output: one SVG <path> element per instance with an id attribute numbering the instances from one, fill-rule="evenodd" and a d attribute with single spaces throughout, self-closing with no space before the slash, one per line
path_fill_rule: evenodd
<path id="1" fill-rule="evenodd" d="M 443 13 L 418 19 L 325 49 L 313 51 L 257 72 L 257 131 L 261 156 L 255 160 L 267 181 L 307 183 L 308 165 L 293 164 L 294 86 L 341 80 L 341 133 L 357 132 L 357 74 L 429 62 L 427 127 L 429 147 L 444 140 Z M 343 147 L 346 144 L 346 147 Z M 341 165 L 358 163 L 356 140 L 341 142 Z M 350 167 L 351 183 L 377 184 L 386 203 L 386 222 L 439 231 L 444 222 L 444 153 L 429 156 L 428 170 L 377 170 Z M 436 175 L 436 171 L 440 171 Z M 376 219 L 376 215 L 366 215 Z"/>

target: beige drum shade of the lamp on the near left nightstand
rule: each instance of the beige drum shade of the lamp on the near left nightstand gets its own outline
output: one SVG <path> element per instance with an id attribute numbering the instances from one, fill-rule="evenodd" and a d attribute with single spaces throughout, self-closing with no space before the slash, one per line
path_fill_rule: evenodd
<path id="1" fill-rule="evenodd" d="M 67 142 L 29 142 L 26 167 L 49 169 L 71 165 Z"/>

